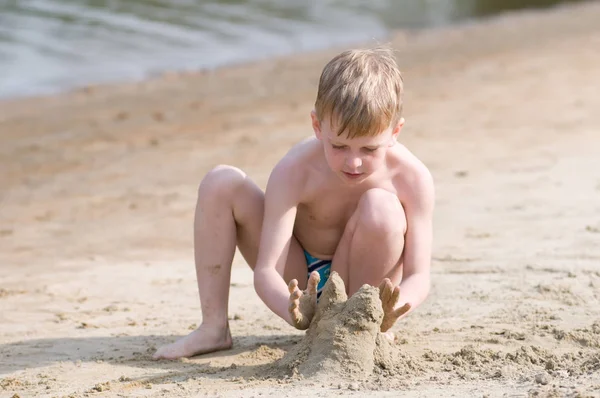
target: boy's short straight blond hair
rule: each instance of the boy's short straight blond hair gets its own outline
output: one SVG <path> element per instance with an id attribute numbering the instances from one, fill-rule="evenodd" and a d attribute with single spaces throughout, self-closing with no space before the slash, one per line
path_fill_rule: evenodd
<path id="1" fill-rule="evenodd" d="M 388 48 L 348 50 L 323 68 L 317 118 L 330 117 L 337 135 L 376 136 L 402 116 L 402 73 Z"/>

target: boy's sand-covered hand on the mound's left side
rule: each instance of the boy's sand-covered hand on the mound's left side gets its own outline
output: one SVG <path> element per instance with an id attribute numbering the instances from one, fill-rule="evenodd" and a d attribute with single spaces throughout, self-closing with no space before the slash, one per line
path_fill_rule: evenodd
<path id="1" fill-rule="evenodd" d="M 304 292 L 298 288 L 298 280 L 290 281 L 288 285 L 290 291 L 289 312 L 292 326 L 296 329 L 306 330 L 310 326 L 310 321 L 317 310 L 317 286 L 320 281 L 319 273 L 313 271 L 308 278 L 308 286 Z"/>

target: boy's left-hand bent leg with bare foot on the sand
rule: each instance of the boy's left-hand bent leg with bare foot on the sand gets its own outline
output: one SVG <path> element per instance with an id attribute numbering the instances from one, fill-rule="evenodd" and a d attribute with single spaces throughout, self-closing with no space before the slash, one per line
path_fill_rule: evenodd
<path id="1" fill-rule="evenodd" d="M 175 359 L 228 349 L 231 263 L 236 245 L 252 269 L 256 264 L 264 213 L 264 194 L 241 170 L 217 166 L 202 180 L 194 218 L 194 258 L 202 308 L 198 329 L 160 347 L 155 359 Z M 292 238 L 287 274 L 301 275 L 306 263 Z M 281 271 L 280 271 L 281 272 Z"/>

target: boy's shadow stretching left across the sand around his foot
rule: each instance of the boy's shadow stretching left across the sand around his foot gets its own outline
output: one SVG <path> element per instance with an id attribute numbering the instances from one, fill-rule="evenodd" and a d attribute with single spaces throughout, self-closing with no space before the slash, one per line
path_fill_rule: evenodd
<path id="1" fill-rule="evenodd" d="M 233 348 L 230 350 L 175 361 L 152 359 L 157 347 L 180 337 L 183 336 L 64 337 L 3 344 L 0 345 L 0 358 L 3 358 L 0 361 L 0 376 L 56 363 L 104 362 L 123 367 L 169 371 L 153 380 L 144 379 L 149 382 L 169 378 L 184 381 L 199 374 L 218 377 L 225 370 L 228 377 L 261 377 L 261 370 L 273 360 L 264 358 L 264 361 L 259 361 L 262 362 L 261 365 L 245 365 L 244 362 L 248 362 L 243 358 L 246 354 L 251 355 L 260 346 L 288 351 L 301 339 L 301 336 L 294 335 L 240 336 L 234 337 Z M 260 343 L 257 344 L 257 341 Z M 213 361 L 222 365 L 214 365 Z"/>

